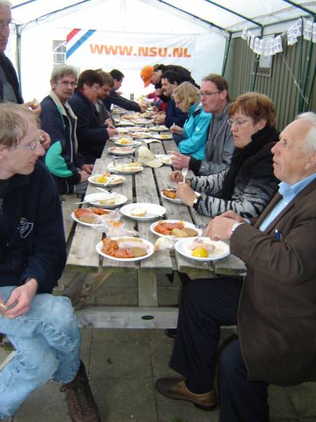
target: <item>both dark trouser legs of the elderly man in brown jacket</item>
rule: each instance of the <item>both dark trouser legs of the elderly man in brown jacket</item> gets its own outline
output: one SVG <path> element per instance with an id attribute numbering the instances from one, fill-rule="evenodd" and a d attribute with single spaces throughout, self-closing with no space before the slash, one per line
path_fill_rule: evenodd
<path id="1" fill-rule="evenodd" d="M 242 281 L 192 280 L 183 288 L 170 366 L 196 394 L 213 389 L 220 326 L 237 324 Z M 268 385 L 247 381 L 239 340 L 225 347 L 219 364 L 220 422 L 267 422 Z"/>

